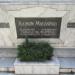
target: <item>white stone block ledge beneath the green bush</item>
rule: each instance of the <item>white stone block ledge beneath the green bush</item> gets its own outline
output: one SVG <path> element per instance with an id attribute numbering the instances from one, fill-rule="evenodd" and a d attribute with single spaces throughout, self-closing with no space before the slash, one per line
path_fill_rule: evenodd
<path id="1" fill-rule="evenodd" d="M 16 59 L 14 63 L 16 74 L 59 74 L 59 61 L 53 58 L 46 62 L 20 62 Z"/>

